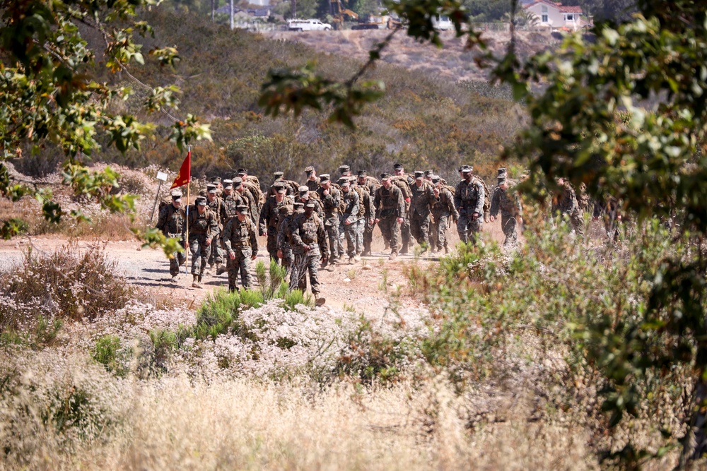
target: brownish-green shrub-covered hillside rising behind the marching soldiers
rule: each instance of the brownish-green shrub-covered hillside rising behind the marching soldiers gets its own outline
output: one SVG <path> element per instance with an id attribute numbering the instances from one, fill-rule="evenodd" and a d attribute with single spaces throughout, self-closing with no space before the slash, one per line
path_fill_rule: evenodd
<path id="1" fill-rule="evenodd" d="M 455 83 L 452 76 L 458 64 L 467 62 L 471 52 L 455 50 L 457 65 L 451 64 L 450 59 L 449 72 L 440 73 L 444 66 L 440 58 L 446 49 L 440 52 L 421 45 L 414 50 L 407 47 L 407 56 L 430 62 L 435 58 L 438 66 L 433 70 L 404 68 L 404 61 L 396 62 L 400 66 L 380 64 L 370 78 L 385 81 L 387 93 L 366 109 L 354 132 L 327 124 L 325 113 L 305 113 L 297 121 L 264 118 L 257 107 L 257 97 L 269 68 L 314 61 L 325 76 L 346 78 L 360 66 L 360 51 L 368 47 L 372 37 L 356 42 L 349 33 L 358 53 L 342 50 L 342 54 L 326 54 L 337 52 L 337 41 L 329 41 L 329 37 L 325 42 L 332 49 L 310 47 L 279 36 L 266 38 L 242 30 L 230 31 L 163 8 L 146 13 L 146 20 L 154 26 L 156 40 L 145 40 L 144 49 L 175 44 L 182 60 L 175 73 L 166 69 L 148 73 L 157 70 L 148 61 L 146 71 L 135 70 L 134 76 L 151 86 L 177 83 L 183 91 L 182 104 L 173 114 L 184 117 L 192 113 L 210 122 L 214 142 L 199 143 L 193 150 L 194 174 L 199 177 L 245 166 L 255 174 L 279 169 L 298 179 L 306 165 L 317 164 L 324 172 L 342 162 L 377 173 L 390 169 L 394 161 L 409 169 L 431 167 L 443 177 L 455 177 L 454 170 L 461 162 L 473 162 L 481 174 L 491 177 L 499 146 L 508 142 L 520 124 L 522 112 L 513 103 L 471 93 Z M 402 52 L 393 54 L 402 56 Z M 136 97 L 127 106 L 133 110 L 144 97 L 144 90 L 127 76 L 98 79 L 131 86 Z M 126 105 L 119 102 L 115 106 L 120 111 Z M 147 118 L 161 126 L 170 124 L 162 115 Z M 157 134 L 164 136 L 164 128 L 158 129 Z M 46 152 L 43 157 L 44 160 L 18 162 L 18 169 L 35 174 L 52 172 L 61 160 L 57 153 Z M 181 158 L 163 138 L 144 143 L 141 152 L 119 155 L 109 149 L 93 157 L 136 168 L 156 164 L 170 169 L 175 169 Z"/>

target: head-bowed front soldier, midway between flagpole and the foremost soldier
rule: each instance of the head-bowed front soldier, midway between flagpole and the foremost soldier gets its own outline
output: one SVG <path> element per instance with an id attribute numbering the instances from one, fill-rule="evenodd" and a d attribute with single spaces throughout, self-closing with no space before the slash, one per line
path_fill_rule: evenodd
<path id="1" fill-rule="evenodd" d="M 223 228 L 223 244 L 228 253 L 228 290 L 235 291 L 240 273 L 240 285 L 252 286 L 250 262 L 258 255 L 258 238 L 255 234 L 255 222 L 248 217 L 245 205 L 238 205 L 236 217 Z"/>

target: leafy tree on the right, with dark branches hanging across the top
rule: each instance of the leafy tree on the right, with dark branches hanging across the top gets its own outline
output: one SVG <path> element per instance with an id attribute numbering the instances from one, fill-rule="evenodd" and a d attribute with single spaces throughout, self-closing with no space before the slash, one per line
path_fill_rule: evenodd
<path id="1" fill-rule="evenodd" d="M 460 3 L 402 0 L 387 6 L 404 18 L 407 34 L 416 40 L 441 45 L 430 17 L 442 11 L 457 37 L 484 49 L 479 33 L 465 27 L 469 11 Z M 527 161 L 528 190 L 566 177 L 586 184 L 599 201 L 608 193 L 641 218 L 653 215 L 675 224 L 674 231 L 691 240 L 694 256 L 666 255 L 645 273 L 649 302 L 631 321 L 614 325 L 607 311 L 580 329 L 588 357 L 609 384 L 604 410 L 612 426 L 636 413 L 640 385 L 649 376 L 677 364 L 693 371 L 685 465 L 707 448 L 707 15 L 702 2 L 691 0 L 638 0 L 636 7 L 638 14 L 621 16 L 620 23 L 597 22 L 592 41 L 569 35 L 559 50 L 522 64 L 511 40 L 505 55 L 478 60 L 493 66 L 495 80 L 510 84 L 527 103 L 527 129 L 503 157 Z M 511 3 L 512 17 L 517 8 Z M 262 95 L 267 111 L 298 114 L 303 107 L 327 106 L 330 119 L 354 126 L 363 102 L 375 100 L 370 83 L 358 88 L 355 82 L 385 47 L 371 51 L 363 72 L 343 84 L 325 81 L 312 69 L 271 75 Z M 543 84 L 544 91 L 533 95 L 532 83 Z M 383 86 L 375 84 L 379 91 Z M 631 448 L 626 455 L 636 460 L 643 454 Z"/>

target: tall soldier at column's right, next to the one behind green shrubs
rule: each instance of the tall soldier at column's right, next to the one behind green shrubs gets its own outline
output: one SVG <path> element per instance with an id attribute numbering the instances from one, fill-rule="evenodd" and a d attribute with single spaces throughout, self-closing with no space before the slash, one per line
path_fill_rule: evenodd
<path id="1" fill-rule="evenodd" d="M 454 206 L 459 213 L 457 232 L 459 239 L 466 244 L 477 243 L 477 234 L 484 222 L 484 184 L 472 177 L 472 167 L 462 167 L 462 181 L 457 184 L 454 193 Z"/>

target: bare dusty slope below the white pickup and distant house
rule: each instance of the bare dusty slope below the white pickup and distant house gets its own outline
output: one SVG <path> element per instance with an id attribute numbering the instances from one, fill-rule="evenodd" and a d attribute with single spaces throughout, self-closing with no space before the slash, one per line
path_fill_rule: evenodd
<path id="1" fill-rule="evenodd" d="M 307 44 L 317 51 L 337 56 L 368 60 L 368 51 L 382 41 L 388 30 L 341 30 L 341 31 L 272 31 L 264 35 L 281 41 L 296 41 Z M 388 64 L 402 66 L 413 71 L 423 71 L 431 77 L 451 78 L 455 81 L 484 81 L 488 70 L 481 70 L 474 63 L 479 49 L 467 49 L 466 42 L 454 37 L 454 32 L 441 33 L 444 47 L 438 49 L 430 44 L 420 44 L 406 35 L 404 30 L 396 33 L 390 47 L 382 53 Z M 508 32 L 486 31 L 481 36 L 496 55 L 506 52 L 510 40 Z M 550 32 L 518 32 L 516 50 L 521 57 L 528 56 L 560 43 Z"/>

